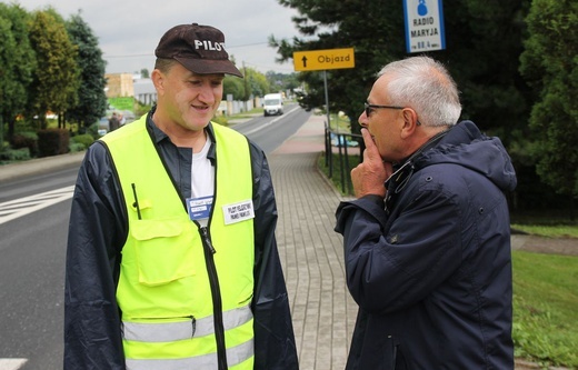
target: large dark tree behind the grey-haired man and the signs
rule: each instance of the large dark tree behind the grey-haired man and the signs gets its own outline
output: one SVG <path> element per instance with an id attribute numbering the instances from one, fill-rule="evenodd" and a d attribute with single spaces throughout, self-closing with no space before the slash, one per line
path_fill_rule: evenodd
<path id="1" fill-rule="evenodd" d="M 290 42 L 271 36 L 269 43 L 278 49 L 279 61 L 299 50 L 355 49 L 355 69 L 327 73 L 330 111 L 341 110 L 357 122 L 376 73 L 386 63 L 408 57 L 402 1 L 278 1 L 299 11 L 293 22 L 307 38 Z M 462 91 L 464 118 L 474 118 L 482 129 L 526 123 L 526 87 L 517 68 L 529 1 L 444 1 L 447 50 L 427 54 L 448 67 Z M 301 104 L 323 106 L 321 72 L 301 72 L 299 79 L 309 87 Z M 357 131 L 358 124 L 352 129 Z"/>

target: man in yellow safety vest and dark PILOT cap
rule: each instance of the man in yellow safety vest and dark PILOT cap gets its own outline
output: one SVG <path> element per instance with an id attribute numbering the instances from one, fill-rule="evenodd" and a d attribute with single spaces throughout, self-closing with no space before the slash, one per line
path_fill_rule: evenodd
<path id="1" fill-rule="evenodd" d="M 221 31 L 177 26 L 158 101 L 89 148 L 72 201 L 64 369 L 298 369 L 261 149 L 210 122 Z"/>

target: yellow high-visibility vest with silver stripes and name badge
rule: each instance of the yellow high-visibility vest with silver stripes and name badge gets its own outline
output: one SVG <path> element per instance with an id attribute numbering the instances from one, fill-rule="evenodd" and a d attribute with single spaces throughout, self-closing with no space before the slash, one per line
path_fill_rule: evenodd
<path id="1" fill-rule="evenodd" d="M 190 220 L 146 117 L 101 139 L 110 150 L 129 219 L 117 289 L 128 369 L 217 369 L 215 313 L 222 314 L 229 369 L 253 368 L 249 144 L 240 133 L 212 126 L 217 166 L 208 229 Z M 205 231 L 215 251 L 208 257 Z M 215 260 L 213 282 L 222 303 L 218 312 L 210 281 L 215 273 L 206 258 Z"/>

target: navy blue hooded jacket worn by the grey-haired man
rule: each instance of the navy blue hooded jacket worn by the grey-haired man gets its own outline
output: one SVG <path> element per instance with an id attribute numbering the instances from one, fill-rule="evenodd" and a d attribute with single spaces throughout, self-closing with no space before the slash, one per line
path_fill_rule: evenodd
<path id="1" fill-rule="evenodd" d="M 514 369 L 504 146 L 464 121 L 397 174 L 386 209 L 336 213 L 359 304 L 347 369 Z"/>

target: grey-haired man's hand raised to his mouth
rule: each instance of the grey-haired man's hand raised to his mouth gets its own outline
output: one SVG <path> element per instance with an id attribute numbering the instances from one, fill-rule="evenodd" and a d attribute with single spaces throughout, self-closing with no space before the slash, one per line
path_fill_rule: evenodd
<path id="1" fill-rule="evenodd" d="M 363 150 L 363 162 L 359 163 L 351 170 L 351 183 L 357 198 L 367 194 L 376 194 L 386 197 L 386 188 L 383 182 L 391 176 L 391 163 L 383 162 L 379 156 L 379 151 L 369 134 L 369 131 L 361 129 L 366 150 Z"/>

